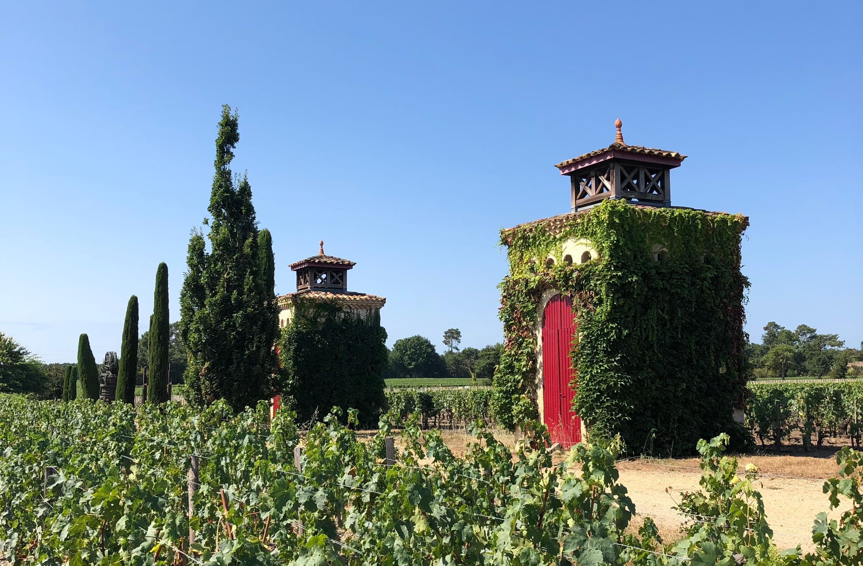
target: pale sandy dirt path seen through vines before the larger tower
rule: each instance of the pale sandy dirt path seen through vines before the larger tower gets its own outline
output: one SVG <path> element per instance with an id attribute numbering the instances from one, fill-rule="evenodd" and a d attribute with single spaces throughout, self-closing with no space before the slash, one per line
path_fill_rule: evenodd
<path id="1" fill-rule="evenodd" d="M 745 458 L 745 457 L 744 457 Z M 689 463 L 682 465 L 690 465 Z M 660 467 L 642 462 L 620 462 L 620 483 L 627 487 L 639 515 L 649 515 L 664 538 L 675 540 L 681 517 L 671 509 L 680 500 L 680 492 L 699 488 L 699 470 Z M 818 513 L 829 511 L 823 481 L 765 476 L 759 480 L 767 523 L 773 530 L 773 542 L 780 550 L 800 544 L 812 549 L 812 523 Z M 665 489 L 668 488 L 666 493 Z M 673 500 L 672 500 L 673 496 Z M 838 517 L 841 510 L 830 513 Z M 641 524 L 637 519 L 636 525 Z"/>

